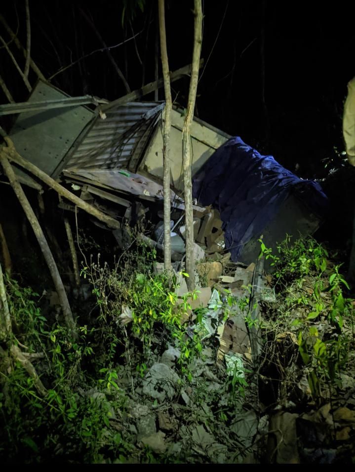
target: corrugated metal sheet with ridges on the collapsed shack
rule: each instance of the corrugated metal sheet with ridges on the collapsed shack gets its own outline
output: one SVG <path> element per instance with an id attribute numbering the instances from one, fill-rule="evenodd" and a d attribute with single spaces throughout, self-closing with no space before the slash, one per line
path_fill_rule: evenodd
<path id="1" fill-rule="evenodd" d="M 136 172 L 164 103 L 130 102 L 97 116 L 67 160 L 66 169 Z"/>

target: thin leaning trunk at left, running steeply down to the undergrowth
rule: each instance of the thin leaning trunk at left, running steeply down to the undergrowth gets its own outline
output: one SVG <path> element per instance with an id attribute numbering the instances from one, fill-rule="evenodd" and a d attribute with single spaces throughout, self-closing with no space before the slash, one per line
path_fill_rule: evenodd
<path id="1" fill-rule="evenodd" d="M 32 229 L 35 233 L 35 236 L 39 242 L 39 247 L 42 251 L 42 254 L 44 256 L 44 259 L 48 265 L 48 269 L 50 272 L 50 275 L 52 276 L 53 283 L 56 289 L 56 292 L 58 294 L 58 298 L 60 301 L 60 304 L 62 306 L 63 310 L 63 315 L 65 318 L 65 321 L 67 323 L 67 326 L 69 329 L 71 329 L 74 333 L 75 331 L 75 321 L 72 315 L 72 311 L 70 309 L 69 301 L 67 294 L 64 289 L 64 285 L 62 282 L 62 279 L 60 277 L 58 268 L 56 266 L 56 263 L 54 261 L 53 255 L 50 251 L 50 248 L 48 246 L 48 243 L 45 239 L 45 236 L 43 234 L 43 231 L 39 225 L 39 221 L 30 205 L 30 202 L 28 201 L 24 191 L 22 190 L 21 184 L 16 179 L 15 173 L 13 171 L 13 168 L 9 161 L 7 160 L 7 157 L 5 153 L 0 151 L 0 163 L 2 165 L 2 168 L 4 170 L 5 175 L 7 176 L 11 187 L 13 188 L 16 197 L 18 198 L 19 202 L 21 203 L 21 206 L 27 216 L 28 221 L 30 222 Z"/>

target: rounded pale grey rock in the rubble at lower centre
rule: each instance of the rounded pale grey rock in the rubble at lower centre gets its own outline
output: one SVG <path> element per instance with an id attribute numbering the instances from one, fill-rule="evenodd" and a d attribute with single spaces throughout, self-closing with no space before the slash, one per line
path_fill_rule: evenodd
<path id="1" fill-rule="evenodd" d="M 162 363 L 154 364 L 143 380 L 143 394 L 157 398 L 162 402 L 171 399 L 175 393 L 179 376 L 176 372 Z"/>

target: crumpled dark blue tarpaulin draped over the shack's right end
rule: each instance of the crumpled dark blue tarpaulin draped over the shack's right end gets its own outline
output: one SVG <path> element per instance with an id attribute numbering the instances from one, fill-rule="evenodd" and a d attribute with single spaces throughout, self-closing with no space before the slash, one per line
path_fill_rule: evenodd
<path id="1" fill-rule="evenodd" d="M 300 179 L 238 136 L 217 149 L 193 178 L 194 198 L 220 212 L 226 248 L 234 261 L 244 244 L 262 234 L 291 192 L 310 212 L 324 216 L 327 197 L 317 182 Z"/>

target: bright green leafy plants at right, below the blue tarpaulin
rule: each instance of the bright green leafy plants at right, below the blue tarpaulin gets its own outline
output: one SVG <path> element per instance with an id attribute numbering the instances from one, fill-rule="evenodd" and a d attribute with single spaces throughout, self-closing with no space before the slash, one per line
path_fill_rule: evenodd
<path id="1" fill-rule="evenodd" d="M 324 386 L 330 389 L 339 382 L 354 343 L 353 302 L 344 295 L 344 287 L 349 289 L 349 285 L 339 272 L 340 266 L 329 265 L 328 252 L 313 238 L 291 244 L 287 236 L 277 246 L 278 255 L 260 242 L 261 255 L 272 260 L 276 288 L 285 296 L 283 329 L 295 331 L 309 387 L 318 400 Z M 290 318 L 292 313 L 297 316 Z"/>

